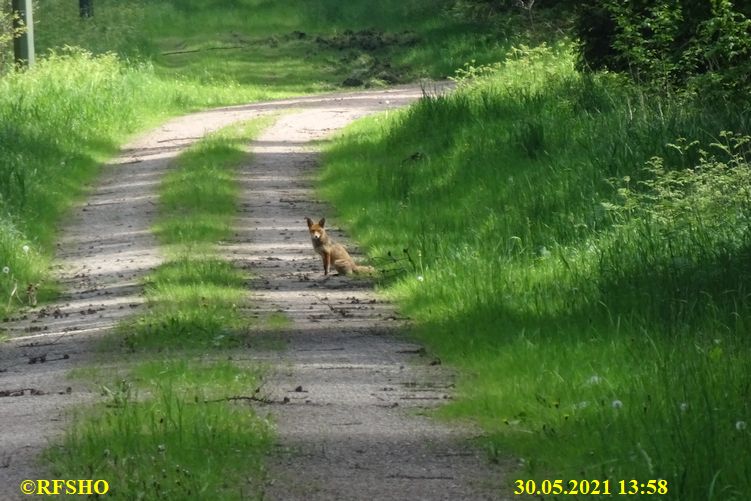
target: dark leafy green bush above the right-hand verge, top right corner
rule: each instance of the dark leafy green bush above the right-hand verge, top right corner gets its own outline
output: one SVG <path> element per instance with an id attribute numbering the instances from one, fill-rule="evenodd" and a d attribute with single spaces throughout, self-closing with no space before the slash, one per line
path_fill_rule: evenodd
<path id="1" fill-rule="evenodd" d="M 597 0 L 577 10 L 579 67 L 628 72 L 674 87 L 747 98 L 751 7 L 730 0 Z"/>

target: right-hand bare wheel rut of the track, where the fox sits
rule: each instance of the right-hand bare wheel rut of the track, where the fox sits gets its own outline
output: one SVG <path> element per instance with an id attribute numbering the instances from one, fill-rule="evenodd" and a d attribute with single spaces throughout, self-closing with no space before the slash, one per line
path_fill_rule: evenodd
<path id="1" fill-rule="evenodd" d="M 266 499 L 502 498 L 501 472 L 468 446 L 471 429 L 419 416 L 451 398 L 451 374 L 399 335 L 403 321 L 370 283 L 324 278 L 304 222 L 335 220 L 313 192 L 312 143 L 420 95 L 408 88 L 321 102 L 283 116 L 252 144 L 226 254 L 257 276 L 258 313 L 282 311 L 292 323 L 266 334 L 286 350 L 251 355 L 273 368 L 264 387 L 278 403 L 270 408 L 279 441 Z"/>

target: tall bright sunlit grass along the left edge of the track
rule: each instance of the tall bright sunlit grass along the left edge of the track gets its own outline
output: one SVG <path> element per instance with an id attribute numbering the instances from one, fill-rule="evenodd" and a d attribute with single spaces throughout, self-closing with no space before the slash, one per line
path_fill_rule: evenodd
<path id="1" fill-rule="evenodd" d="M 148 64 L 76 49 L 0 78 L 0 268 L 13 277 L 0 281 L 0 313 L 9 311 L 8 301 L 25 302 L 11 297 L 16 287 L 42 282 L 42 296 L 49 296 L 46 272 L 60 214 L 125 137 L 181 110 L 264 95 L 164 81 Z"/>

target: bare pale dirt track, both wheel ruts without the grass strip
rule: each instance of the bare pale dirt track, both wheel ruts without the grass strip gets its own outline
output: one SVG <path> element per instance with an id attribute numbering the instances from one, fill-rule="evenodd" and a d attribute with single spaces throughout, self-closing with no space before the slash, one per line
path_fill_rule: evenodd
<path id="1" fill-rule="evenodd" d="M 36 454 L 64 428 L 66 409 L 95 397 L 65 374 L 85 366 L 93 339 L 141 308 L 139 279 L 161 262 L 148 230 L 170 159 L 207 132 L 282 110 L 294 112 L 252 144 L 236 240 L 222 247 L 258 277 L 255 307 L 293 322 L 263 334 L 282 337 L 286 350 L 241 354 L 275 367 L 265 384 L 280 402 L 270 406 L 279 443 L 267 499 L 502 499 L 501 472 L 467 446 L 471 431 L 419 416 L 450 398 L 450 372 L 399 336 L 398 315 L 367 282 L 325 279 L 305 229 L 306 216 L 336 223 L 312 191 L 311 141 L 421 93 L 402 87 L 190 115 L 134 141 L 106 166 L 61 231 L 60 303 L 3 325 L 13 339 L 0 345 L 0 391 L 25 391 L 0 396 L 0 499 L 20 498 L 23 479 L 45 478 Z"/>

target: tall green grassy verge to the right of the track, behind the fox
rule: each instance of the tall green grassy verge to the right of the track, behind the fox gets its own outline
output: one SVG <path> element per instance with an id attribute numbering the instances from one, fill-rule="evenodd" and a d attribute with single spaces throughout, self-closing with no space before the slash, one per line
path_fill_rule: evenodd
<path id="1" fill-rule="evenodd" d="M 441 413 L 521 458 L 514 478 L 747 499 L 749 132 L 720 103 L 524 49 L 351 127 L 321 184 L 396 270 L 384 288 L 416 335 L 461 370 Z"/>

